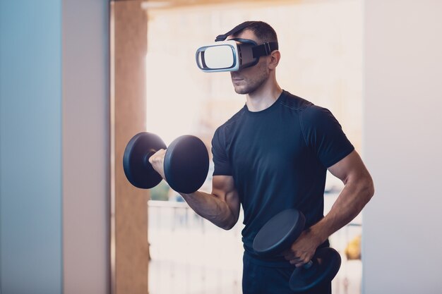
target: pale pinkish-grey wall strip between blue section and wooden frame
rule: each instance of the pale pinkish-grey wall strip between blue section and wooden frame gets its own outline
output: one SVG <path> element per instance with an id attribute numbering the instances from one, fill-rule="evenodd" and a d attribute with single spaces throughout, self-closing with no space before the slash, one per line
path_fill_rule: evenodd
<path id="1" fill-rule="evenodd" d="M 109 1 L 62 2 L 64 294 L 109 293 Z"/>

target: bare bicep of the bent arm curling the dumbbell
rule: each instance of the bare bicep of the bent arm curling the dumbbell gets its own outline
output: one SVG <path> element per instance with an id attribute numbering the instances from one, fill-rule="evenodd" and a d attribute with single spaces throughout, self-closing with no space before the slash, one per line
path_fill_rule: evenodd
<path id="1" fill-rule="evenodd" d="M 212 194 L 225 201 L 236 219 L 238 219 L 239 195 L 232 176 L 213 176 Z"/>

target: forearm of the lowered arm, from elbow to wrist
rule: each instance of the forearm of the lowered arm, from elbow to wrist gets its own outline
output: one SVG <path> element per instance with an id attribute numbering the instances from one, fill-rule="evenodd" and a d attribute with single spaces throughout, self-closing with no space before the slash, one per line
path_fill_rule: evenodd
<path id="1" fill-rule="evenodd" d="M 311 232 L 324 242 L 331 234 L 350 223 L 374 195 L 371 180 L 347 183 L 330 212 L 311 226 Z"/>

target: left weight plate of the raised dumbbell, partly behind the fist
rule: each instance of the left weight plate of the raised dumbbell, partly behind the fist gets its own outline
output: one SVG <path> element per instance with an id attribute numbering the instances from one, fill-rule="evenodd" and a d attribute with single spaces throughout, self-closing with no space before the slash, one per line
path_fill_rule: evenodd
<path id="1" fill-rule="evenodd" d="M 149 154 L 166 149 L 165 142 L 153 133 L 138 133 L 124 149 L 123 167 L 126 178 L 137 188 L 150 189 L 158 185 L 162 177 L 150 165 Z"/>

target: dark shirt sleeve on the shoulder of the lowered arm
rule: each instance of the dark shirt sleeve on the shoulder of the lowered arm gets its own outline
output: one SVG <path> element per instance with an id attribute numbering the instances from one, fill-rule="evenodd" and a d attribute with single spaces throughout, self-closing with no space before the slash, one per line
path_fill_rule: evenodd
<path id="1" fill-rule="evenodd" d="M 309 106 L 300 116 L 307 147 L 311 148 L 321 164 L 328 168 L 354 150 L 338 120 L 320 106 Z"/>

